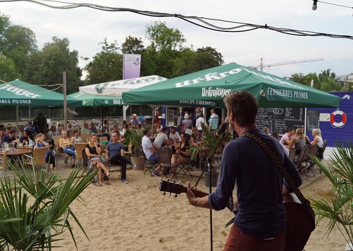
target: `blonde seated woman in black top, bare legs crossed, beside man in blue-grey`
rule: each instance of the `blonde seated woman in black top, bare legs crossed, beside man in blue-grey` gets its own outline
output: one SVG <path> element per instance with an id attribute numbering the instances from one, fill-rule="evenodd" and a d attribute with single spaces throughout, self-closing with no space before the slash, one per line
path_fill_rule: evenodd
<path id="1" fill-rule="evenodd" d="M 96 183 L 95 185 L 102 186 L 102 170 L 105 173 L 105 176 L 107 176 L 108 178 L 110 176 L 110 173 L 108 169 L 104 166 L 103 161 L 101 160 L 101 148 L 98 146 L 97 134 L 91 134 L 90 141 L 86 145 L 85 152 L 88 156 L 88 165 L 90 166 L 90 168 L 93 168 L 95 166 L 97 166 L 98 168 L 98 183 Z M 106 184 L 110 185 L 109 181 L 107 181 Z"/>

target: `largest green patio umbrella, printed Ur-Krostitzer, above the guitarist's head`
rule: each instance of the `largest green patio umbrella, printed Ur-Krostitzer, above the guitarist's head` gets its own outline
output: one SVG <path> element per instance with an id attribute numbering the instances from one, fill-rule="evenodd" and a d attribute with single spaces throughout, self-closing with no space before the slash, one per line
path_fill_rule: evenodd
<path id="1" fill-rule="evenodd" d="M 339 107 L 339 97 L 252 68 L 229 63 L 123 92 L 125 103 L 225 107 L 233 91 L 251 92 L 260 107 Z"/>

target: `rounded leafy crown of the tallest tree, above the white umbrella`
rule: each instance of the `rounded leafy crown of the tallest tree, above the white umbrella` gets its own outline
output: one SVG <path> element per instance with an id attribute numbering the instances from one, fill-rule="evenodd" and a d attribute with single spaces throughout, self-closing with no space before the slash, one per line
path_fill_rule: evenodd
<path id="1" fill-rule="evenodd" d="M 184 35 L 176 28 L 169 28 L 165 22 L 155 21 L 146 26 L 146 37 L 156 50 L 176 50 L 186 42 Z"/>

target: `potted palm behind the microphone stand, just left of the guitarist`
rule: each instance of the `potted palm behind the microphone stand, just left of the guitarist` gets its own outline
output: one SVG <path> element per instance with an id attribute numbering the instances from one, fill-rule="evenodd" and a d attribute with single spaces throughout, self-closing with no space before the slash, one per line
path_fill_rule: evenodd
<path id="1" fill-rule="evenodd" d="M 204 168 L 204 166 L 207 165 L 207 158 L 211 157 L 211 154 L 216 148 L 220 138 L 217 137 L 216 134 L 212 130 L 210 130 L 206 124 L 201 123 L 201 127 L 202 127 L 202 141 L 200 142 L 200 144 L 190 147 L 189 155 L 192 161 L 196 161 L 197 156 L 201 155 L 201 158 L 200 158 L 202 163 L 201 166 L 202 168 Z M 230 141 L 231 139 L 232 139 L 232 133 L 229 131 L 226 133 L 225 137 L 223 138 L 222 140 L 223 142 L 221 142 L 220 150 L 221 150 L 222 144 Z M 213 155 L 212 163 L 216 158 L 216 155 L 217 154 Z M 216 172 L 216 170 L 213 168 L 212 175 L 211 175 L 212 186 L 217 186 L 218 175 L 219 173 Z M 204 177 L 205 185 L 209 186 L 208 172 L 205 172 L 203 174 L 203 177 Z"/>

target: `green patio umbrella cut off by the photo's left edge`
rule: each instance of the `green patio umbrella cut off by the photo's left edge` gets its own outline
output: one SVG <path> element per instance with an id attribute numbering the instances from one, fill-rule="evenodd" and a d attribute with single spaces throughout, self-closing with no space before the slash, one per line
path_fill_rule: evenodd
<path id="1" fill-rule="evenodd" d="M 64 95 L 18 79 L 0 84 L 0 106 L 64 106 Z M 81 106 L 80 100 L 67 97 L 67 106 Z"/>

